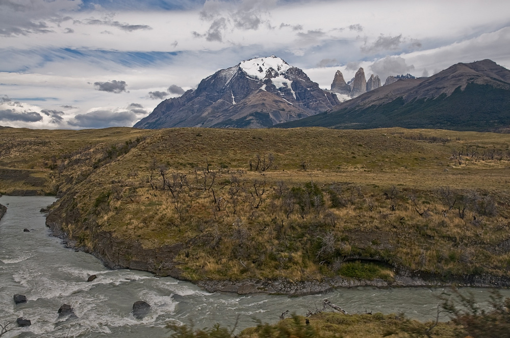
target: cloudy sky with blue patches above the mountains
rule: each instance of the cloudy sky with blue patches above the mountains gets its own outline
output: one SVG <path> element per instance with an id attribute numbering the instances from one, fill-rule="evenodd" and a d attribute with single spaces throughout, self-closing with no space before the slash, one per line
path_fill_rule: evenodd
<path id="1" fill-rule="evenodd" d="M 323 89 L 335 72 L 510 68 L 510 2 L 0 0 L 0 125 L 133 126 L 164 99 L 276 55 Z"/>

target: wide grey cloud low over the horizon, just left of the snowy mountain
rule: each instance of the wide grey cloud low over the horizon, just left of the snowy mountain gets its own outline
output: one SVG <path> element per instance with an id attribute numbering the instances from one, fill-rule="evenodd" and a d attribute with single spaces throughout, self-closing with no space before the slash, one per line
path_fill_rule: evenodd
<path id="1" fill-rule="evenodd" d="M 132 126 L 137 120 L 133 111 L 113 112 L 110 110 L 96 110 L 87 114 L 79 114 L 67 123 L 79 128 L 107 128 Z"/>

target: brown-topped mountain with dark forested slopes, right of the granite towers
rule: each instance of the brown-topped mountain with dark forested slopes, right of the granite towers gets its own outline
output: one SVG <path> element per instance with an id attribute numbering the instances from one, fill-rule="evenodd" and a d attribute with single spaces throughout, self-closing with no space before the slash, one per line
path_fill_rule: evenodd
<path id="1" fill-rule="evenodd" d="M 510 71 L 491 60 L 458 63 L 430 77 L 401 77 L 327 112 L 278 125 L 498 131 L 510 126 Z"/>

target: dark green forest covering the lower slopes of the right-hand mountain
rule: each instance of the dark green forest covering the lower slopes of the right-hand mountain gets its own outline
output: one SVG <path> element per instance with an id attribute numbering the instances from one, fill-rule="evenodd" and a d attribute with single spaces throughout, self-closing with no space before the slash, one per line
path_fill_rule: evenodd
<path id="1" fill-rule="evenodd" d="M 464 90 L 458 87 L 448 97 L 442 94 L 435 99 L 414 99 L 410 102 L 399 97 L 386 104 L 324 112 L 277 127 L 368 129 L 398 126 L 491 131 L 510 125 L 509 110 L 510 91 L 468 83 Z"/>

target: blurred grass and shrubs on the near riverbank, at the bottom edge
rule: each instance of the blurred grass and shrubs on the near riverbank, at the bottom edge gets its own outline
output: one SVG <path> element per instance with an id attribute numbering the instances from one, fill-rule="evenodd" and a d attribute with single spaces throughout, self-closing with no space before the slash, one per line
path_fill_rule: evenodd
<path id="1" fill-rule="evenodd" d="M 307 337 L 510 337 L 510 298 L 503 299 L 494 290 L 491 308 L 483 309 L 470 293 L 464 295 L 453 290 L 453 296 L 443 294 L 443 304 L 438 307 L 436 319 L 420 322 L 402 314 L 381 313 L 342 314 L 319 311 L 308 317 L 292 315 L 276 324 L 258 323 L 246 328 L 239 338 L 307 338 Z M 444 319 L 449 321 L 442 322 Z M 234 329 L 215 325 L 212 329 L 193 330 L 187 325 L 169 325 L 171 338 L 231 338 Z"/>

